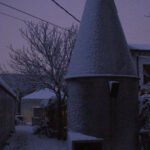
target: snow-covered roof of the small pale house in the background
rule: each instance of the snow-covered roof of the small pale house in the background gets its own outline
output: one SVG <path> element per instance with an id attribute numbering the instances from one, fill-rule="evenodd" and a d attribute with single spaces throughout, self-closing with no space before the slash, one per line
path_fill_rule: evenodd
<path id="1" fill-rule="evenodd" d="M 48 88 L 45 88 L 39 91 L 35 91 L 29 95 L 26 95 L 22 99 L 49 99 L 55 96 L 56 95 L 54 94 L 53 91 L 51 91 Z"/>

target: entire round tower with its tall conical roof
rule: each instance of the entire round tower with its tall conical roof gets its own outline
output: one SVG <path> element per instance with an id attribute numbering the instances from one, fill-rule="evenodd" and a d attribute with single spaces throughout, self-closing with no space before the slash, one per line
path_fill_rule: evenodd
<path id="1" fill-rule="evenodd" d="M 113 0 L 87 0 L 66 80 L 68 135 L 137 150 L 138 78 Z"/>

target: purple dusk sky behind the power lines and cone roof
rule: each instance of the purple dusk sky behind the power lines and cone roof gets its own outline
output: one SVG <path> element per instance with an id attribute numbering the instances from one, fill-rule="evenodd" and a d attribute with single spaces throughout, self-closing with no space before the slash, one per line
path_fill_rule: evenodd
<path id="1" fill-rule="evenodd" d="M 0 0 L 0 2 L 62 27 L 69 27 L 72 23 L 77 23 L 51 0 Z M 81 20 L 86 0 L 57 0 L 57 2 Z M 150 45 L 150 18 L 145 17 L 145 15 L 150 15 L 150 0 L 115 0 L 115 2 L 128 43 Z M 36 19 L 2 5 L 0 5 L 0 12 L 38 22 Z M 9 61 L 7 46 L 10 44 L 15 48 L 23 46 L 24 42 L 18 31 L 19 28 L 24 28 L 22 22 L 0 14 L 0 64 Z"/>

